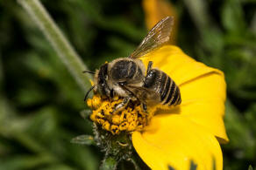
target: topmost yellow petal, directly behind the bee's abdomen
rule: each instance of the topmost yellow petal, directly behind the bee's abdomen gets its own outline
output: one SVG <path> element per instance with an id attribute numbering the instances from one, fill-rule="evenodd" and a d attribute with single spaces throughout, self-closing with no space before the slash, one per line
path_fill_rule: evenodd
<path id="1" fill-rule="evenodd" d="M 145 65 L 148 64 L 148 61 L 153 61 L 153 67 L 157 67 L 171 75 L 178 85 L 212 71 L 221 74 L 221 71 L 217 69 L 196 62 L 195 59 L 188 57 L 179 47 L 174 45 L 165 45 L 159 50 L 154 51 L 152 55 L 147 56 L 149 57 L 142 58 Z"/>

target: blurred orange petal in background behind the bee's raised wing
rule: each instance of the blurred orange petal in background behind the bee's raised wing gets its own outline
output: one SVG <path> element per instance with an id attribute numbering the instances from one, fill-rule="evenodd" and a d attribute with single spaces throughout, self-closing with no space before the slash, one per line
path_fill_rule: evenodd
<path id="1" fill-rule="evenodd" d="M 146 16 L 146 27 L 151 30 L 162 18 L 174 17 L 171 43 L 174 44 L 177 35 L 178 19 L 173 5 L 167 0 L 144 0 L 142 3 Z"/>

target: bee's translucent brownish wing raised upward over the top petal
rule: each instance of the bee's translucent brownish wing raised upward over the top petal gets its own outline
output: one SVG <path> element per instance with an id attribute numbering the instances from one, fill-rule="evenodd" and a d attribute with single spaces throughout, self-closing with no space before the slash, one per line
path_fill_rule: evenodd
<path id="1" fill-rule="evenodd" d="M 140 58 L 151 51 L 159 49 L 170 39 L 174 17 L 165 17 L 148 32 L 137 49 L 132 52 L 129 58 Z"/>

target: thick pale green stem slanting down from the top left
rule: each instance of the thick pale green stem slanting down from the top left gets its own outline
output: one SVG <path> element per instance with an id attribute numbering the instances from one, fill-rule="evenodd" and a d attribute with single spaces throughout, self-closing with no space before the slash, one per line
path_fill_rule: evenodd
<path id="1" fill-rule="evenodd" d="M 88 69 L 47 13 L 44 6 L 38 0 L 18 0 L 18 3 L 24 7 L 39 26 L 39 29 L 53 45 L 54 50 L 57 51 L 60 60 L 68 67 L 77 84 L 85 91 L 90 86 L 89 78 L 91 77 L 89 74 L 82 74 L 82 71 Z"/>

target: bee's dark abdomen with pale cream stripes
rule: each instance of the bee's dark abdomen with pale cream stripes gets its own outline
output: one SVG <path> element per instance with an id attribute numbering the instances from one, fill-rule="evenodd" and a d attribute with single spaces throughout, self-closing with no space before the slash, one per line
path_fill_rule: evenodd
<path id="1" fill-rule="evenodd" d="M 162 105 L 181 104 L 179 87 L 164 71 L 157 69 L 150 70 L 146 75 L 144 87 L 156 92 L 160 96 L 160 103 Z"/>

